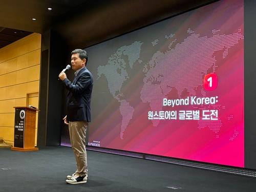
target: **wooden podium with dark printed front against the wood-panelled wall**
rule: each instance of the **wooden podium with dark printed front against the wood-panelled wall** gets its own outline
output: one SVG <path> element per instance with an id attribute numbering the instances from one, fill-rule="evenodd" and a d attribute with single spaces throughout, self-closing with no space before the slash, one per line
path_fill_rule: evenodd
<path id="1" fill-rule="evenodd" d="M 35 147 L 36 109 L 27 106 L 14 106 L 14 151 L 38 151 Z"/>

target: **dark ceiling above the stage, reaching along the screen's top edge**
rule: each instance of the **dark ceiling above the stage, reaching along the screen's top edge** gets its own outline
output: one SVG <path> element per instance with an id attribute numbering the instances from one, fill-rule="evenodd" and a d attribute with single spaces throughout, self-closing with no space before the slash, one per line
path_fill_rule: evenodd
<path id="1" fill-rule="evenodd" d="M 211 2 L 214 0 L 1 0 L 0 48 L 48 29 L 57 31 L 67 45 L 84 48 Z"/>

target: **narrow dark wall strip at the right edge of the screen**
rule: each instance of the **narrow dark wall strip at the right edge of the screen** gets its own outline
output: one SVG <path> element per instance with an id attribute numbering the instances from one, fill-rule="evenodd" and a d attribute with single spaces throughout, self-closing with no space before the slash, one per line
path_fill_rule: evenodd
<path id="1" fill-rule="evenodd" d="M 244 1 L 245 167 L 256 169 L 256 2 Z"/>

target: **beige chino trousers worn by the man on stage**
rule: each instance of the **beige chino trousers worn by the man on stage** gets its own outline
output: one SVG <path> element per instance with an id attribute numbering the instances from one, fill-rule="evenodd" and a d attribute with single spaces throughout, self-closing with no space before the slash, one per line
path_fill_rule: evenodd
<path id="1" fill-rule="evenodd" d="M 88 175 L 86 153 L 87 126 L 87 121 L 69 121 L 70 141 L 76 159 L 76 174 L 79 176 Z"/>

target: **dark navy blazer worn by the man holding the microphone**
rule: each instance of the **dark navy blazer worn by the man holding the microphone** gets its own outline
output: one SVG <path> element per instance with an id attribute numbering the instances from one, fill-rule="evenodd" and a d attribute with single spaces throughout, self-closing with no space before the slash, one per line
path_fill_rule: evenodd
<path id="1" fill-rule="evenodd" d="M 91 121 L 91 97 L 93 89 L 92 73 L 82 68 L 75 76 L 73 82 L 64 79 L 67 96 L 67 120 L 68 121 Z"/>

